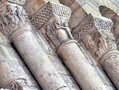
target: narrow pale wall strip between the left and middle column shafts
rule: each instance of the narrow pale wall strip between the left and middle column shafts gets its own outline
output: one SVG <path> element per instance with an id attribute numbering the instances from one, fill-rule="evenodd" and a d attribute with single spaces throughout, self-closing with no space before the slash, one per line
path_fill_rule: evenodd
<path id="1" fill-rule="evenodd" d="M 69 88 L 71 90 L 79 90 L 79 87 L 77 83 L 75 82 L 74 78 L 69 73 L 66 66 L 62 63 L 61 59 L 56 55 L 54 50 L 49 46 L 49 43 L 46 41 L 46 39 L 44 38 L 41 32 L 38 33 L 37 38 L 38 38 L 40 45 L 43 47 L 43 50 L 46 52 L 48 57 L 51 59 L 51 62 L 53 63 L 54 67 L 57 69 L 58 73 L 62 76 L 64 81 L 67 83 Z"/>

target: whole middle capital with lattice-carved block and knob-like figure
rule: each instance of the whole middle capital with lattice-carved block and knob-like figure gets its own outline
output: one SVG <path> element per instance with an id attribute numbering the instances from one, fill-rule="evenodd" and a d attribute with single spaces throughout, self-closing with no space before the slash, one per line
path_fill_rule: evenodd
<path id="1" fill-rule="evenodd" d="M 72 38 L 68 28 L 70 16 L 70 8 L 61 4 L 47 3 L 31 18 L 31 22 L 54 49 Z"/>

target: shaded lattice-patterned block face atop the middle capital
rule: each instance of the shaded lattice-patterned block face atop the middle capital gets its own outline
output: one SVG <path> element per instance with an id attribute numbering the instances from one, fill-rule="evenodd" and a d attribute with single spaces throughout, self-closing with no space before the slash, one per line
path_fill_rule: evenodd
<path id="1" fill-rule="evenodd" d="M 47 3 L 30 19 L 36 29 L 40 29 L 52 17 L 52 5 Z"/>

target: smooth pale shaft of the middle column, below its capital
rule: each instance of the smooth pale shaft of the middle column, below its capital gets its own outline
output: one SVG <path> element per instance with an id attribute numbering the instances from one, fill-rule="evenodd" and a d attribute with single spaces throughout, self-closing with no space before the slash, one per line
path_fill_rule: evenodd
<path id="1" fill-rule="evenodd" d="M 96 68 L 93 67 L 84 54 L 74 42 L 66 42 L 59 48 L 58 54 L 63 58 L 64 63 L 72 72 L 75 80 L 84 90 L 113 90 L 112 86 L 108 86 L 97 74 Z M 92 78 L 93 77 L 93 78 Z"/>

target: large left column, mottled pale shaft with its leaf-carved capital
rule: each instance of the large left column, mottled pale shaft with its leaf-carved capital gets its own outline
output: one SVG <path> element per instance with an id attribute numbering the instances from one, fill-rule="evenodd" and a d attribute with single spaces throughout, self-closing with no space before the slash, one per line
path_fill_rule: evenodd
<path id="1" fill-rule="evenodd" d="M 69 90 L 33 35 L 22 7 L 25 0 L 8 0 L 1 6 L 1 32 L 9 38 L 44 90 Z"/>

